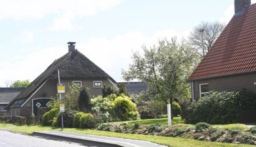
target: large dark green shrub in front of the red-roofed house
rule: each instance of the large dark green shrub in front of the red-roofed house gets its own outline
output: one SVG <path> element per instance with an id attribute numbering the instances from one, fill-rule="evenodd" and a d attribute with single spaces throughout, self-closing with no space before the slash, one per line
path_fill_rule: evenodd
<path id="1" fill-rule="evenodd" d="M 249 90 L 240 90 L 236 92 L 210 92 L 198 102 L 188 106 L 186 123 L 196 124 L 197 122 L 206 122 L 208 124 L 233 124 L 239 122 L 239 111 L 244 106 L 250 106 L 244 102 L 243 98 L 253 102 Z M 252 107 L 252 106 L 250 106 Z"/>

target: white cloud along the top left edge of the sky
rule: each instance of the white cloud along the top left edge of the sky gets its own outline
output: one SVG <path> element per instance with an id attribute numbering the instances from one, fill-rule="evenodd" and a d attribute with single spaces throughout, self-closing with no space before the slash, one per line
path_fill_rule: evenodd
<path id="1" fill-rule="evenodd" d="M 0 19 L 29 20 L 48 14 L 72 12 L 74 15 L 94 15 L 99 10 L 109 9 L 121 0 L 8 0 L 1 1 Z"/>

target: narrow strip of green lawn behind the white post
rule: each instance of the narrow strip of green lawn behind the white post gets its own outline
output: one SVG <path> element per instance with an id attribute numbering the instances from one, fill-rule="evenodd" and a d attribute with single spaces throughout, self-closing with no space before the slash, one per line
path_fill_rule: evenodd
<path id="1" fill-rule="evenodd" d="M 139 123 L 141 125 L 151 125 L 151 124 L 162 124 L 162 125 L 168 125 L 167 118 L 158 118 L 158 119 L 147 119 L 147 120 L 131 120 L 131 121 L 124 121 L 128 124 L 135 124 Z M 117 123 L 117 122 L 114 122 Z M 123 123 L 123 122 L 118 122 Z M 180 117 L 176 117 L 172 119 L 172 124 L 184 124 L 184 120 L 182 120 Z"/>

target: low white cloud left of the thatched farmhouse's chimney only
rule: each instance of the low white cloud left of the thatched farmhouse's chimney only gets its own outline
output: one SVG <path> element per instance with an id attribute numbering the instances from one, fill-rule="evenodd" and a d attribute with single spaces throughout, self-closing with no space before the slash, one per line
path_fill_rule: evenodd
<path id="1" fill-rule="evenodd" d="M 6 83 L 11 83 L 15 80 L 33 81 L 55 59 L 64 55 L 68 48 L 64 50 L 63 47 L 50 47 L 34 50 L 36 51 L 31 51 L 31 53 L 22 57 L 13 55 L 15 59 L 0 63 L 0 87 L 4 87 Z"/>

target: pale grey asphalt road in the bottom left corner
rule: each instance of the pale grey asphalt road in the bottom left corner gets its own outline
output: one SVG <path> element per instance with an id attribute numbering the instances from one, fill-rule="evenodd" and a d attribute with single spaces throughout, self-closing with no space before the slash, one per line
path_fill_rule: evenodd
<path id="1" fill-rule="evenodd" d="M 41 146 L 49 146 L 49 147 L 77 147 L 82 146 L 81 144 L 76 144 L 72 142 L 65 141 L 56 141 L 56 140 L 47 140 L 44 138 L 37 138 L 34 136 L 27 136 L 23 134 L 17 134 L 5 130 L 0 130 L 0 146 L 3 147 L 41 147 Z"/>

